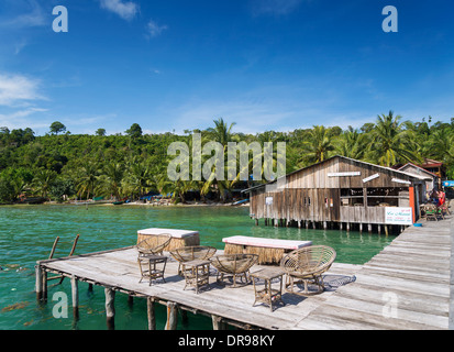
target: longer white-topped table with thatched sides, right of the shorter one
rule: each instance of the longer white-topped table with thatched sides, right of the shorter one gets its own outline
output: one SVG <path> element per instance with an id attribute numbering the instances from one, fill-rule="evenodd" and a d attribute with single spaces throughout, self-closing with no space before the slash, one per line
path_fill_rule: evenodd
<path id="1" fill-rule="evenodd" d="M 279 264 L 285 253 L 312 245 L 311 241 L 264 239 L 233 235 L 222 239 L 225 254 L 251 253 L 258 255 L 258 264 Z"/>

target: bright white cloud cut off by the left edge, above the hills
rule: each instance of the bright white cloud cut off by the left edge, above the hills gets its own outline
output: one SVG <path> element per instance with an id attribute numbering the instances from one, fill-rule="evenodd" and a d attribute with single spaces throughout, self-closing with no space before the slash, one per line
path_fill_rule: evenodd
<path id="1" fill-rule="evenodd" d="M 30 100 L 43 100 L 40 81 L 21 75 L 0 74 L 0 106 L 14 106 Z"/>

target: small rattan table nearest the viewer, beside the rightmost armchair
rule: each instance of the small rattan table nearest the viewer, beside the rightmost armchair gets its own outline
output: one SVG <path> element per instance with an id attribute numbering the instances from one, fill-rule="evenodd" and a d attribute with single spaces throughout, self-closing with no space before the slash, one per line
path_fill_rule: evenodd
<path id="1" fill-rule="evenodd" d="M 273 302 L 283 301 L 283 276 L 284 272 L 276 268 L 263 268 L 258 272 L 251 274 L 252 282 L 254 285 L 255 300 L 253 306 L 258 301 L 267 305 L 273 311 Z M 279 288 L 272 288 L 272 280 L 277 278 L 279 282 Z M 255 279 L 263 279 L 265 282 L 265 287 L 258 289 Z"/>

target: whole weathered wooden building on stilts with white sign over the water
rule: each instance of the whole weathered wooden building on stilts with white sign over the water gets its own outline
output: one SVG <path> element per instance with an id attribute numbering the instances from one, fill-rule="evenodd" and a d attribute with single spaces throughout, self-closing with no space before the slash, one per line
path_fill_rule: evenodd
<path id="1" fill-rule="evenodd" d="M 339 227 L 388 232 L 388 226 L 410 226 L 419 217 L 425 180 L 409 173 L 344 156 L 286 175 L 285 183 L 244 190 L 250 215 L 258 224 Z M 275 186 L 275 187 L 273 187 Z M 396 227 L 395 227 L 396 228 Z"/>

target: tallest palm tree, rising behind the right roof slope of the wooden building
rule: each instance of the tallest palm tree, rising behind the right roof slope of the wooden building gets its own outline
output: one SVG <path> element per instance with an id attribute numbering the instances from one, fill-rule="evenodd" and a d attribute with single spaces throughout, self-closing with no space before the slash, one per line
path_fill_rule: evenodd
<path id="1" fill-rule="evenodd" d="M 419 161 L 417 145 L 410 130 L 405 129 L 401 117 L 394 117 L 392 111 L 387 116 L 378 116 L 372 133 L 370 155 L 383 166 L 392 166 L 399 162 Z"/>

